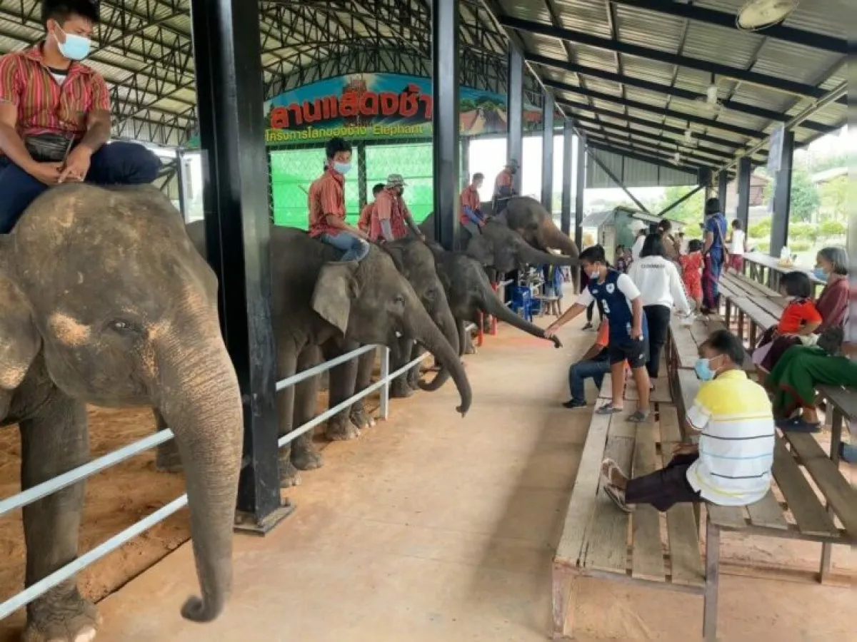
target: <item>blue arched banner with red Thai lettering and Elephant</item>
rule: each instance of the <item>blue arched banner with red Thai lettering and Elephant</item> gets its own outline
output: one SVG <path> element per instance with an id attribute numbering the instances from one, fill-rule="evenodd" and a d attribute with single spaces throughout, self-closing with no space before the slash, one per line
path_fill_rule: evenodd
<path id="1" fill-rule="evenodd" d="M 462 87 L 464 136 L 506 133 L 506 97 Z M 267 145 L 430 138 L 431 80 L 400 74 L 352 74 L 297 87 L 265 103 Z M 524 130 L 540 127 L 542 111 L 524 103 Z"/>

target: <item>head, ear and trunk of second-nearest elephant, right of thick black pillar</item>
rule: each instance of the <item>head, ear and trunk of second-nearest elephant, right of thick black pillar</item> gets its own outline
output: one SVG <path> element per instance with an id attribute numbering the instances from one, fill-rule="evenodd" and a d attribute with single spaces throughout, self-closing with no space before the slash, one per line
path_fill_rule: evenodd
<path id="1" fill-rule="evenodd" d="M 458 349 L 446 340 L 414 288 L 396 269 L 393 258 L 380 247 L 371 247 L 359 262 L 323 265 L 312 306 L 351 341 L 390 346 L 399 332 L 420 343 L 452 376 L 461 395 L 458 412 L 464 415 L 470 409 L 470 382 L 458 359 Z"/>

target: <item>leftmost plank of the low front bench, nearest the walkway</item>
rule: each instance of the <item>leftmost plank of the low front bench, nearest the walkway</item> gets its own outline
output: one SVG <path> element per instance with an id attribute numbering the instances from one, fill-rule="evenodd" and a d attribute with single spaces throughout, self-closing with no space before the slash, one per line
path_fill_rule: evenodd
<path id="1" fill-rule="evenodd" d="M 566 520 L 562 526 L 562 538 L 554 556 L 557 562 L 574 566 L 581 556 L 584 536 L 596 506 L 598 479 L 601 477 L 601 462 L 609 427 L 610 415 L 592 415 L 589 434 L 580 454 L 578 476 L 574 480 Z"/>

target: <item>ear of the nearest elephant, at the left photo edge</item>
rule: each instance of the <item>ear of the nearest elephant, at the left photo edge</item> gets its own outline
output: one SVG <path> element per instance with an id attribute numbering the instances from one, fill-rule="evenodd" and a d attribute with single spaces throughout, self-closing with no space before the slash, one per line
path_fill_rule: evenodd
<path id="1" fill-rule="evenodd" d="M 0 397 L 21 385 L 41 347 L 30 302 L 9 268 L 9 241 L 0 236 Z"/>

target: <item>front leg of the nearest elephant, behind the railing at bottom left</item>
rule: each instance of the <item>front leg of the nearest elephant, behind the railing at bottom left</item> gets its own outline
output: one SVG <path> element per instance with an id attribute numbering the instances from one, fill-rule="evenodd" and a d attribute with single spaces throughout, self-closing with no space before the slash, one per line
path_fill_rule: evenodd
<path id="1" fill-rule="evenodd" d="M 37 417 L 21 421 L 21 486 L 24 490 L 67 473 L 89 459 L 87 413 L 83 404 L 58 391 Z M 27 586 L 77 557 L 84 482 L 24 507 Z M 24 642 L 91 640 L 98 610 L 81 597 L 74 579 L 52 588 L 27 606 Z"/>

